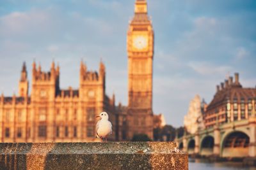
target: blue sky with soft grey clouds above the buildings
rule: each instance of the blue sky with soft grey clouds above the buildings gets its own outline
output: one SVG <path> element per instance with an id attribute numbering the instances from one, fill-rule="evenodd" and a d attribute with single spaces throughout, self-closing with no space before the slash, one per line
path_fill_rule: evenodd
<path id="1" fill-rule="evenodd" d="M 134 1 L 0 0 L 0 91 L 18 93 L 22 62 L 60 65 L 61 89 L 79 87 L 81 59 L 106 64 L 106 93 L 127 104 L 126 35 Z M 210 103 L 216 85 L 238 72 L 256 85 L 256 1 L 148 0 L 155 32 L 153 110 L 183 125 L 189 101 Z M 31 84 L 30 84 L 31 85 Z M 31 86 L 30 86 L 31 87 Z"/>

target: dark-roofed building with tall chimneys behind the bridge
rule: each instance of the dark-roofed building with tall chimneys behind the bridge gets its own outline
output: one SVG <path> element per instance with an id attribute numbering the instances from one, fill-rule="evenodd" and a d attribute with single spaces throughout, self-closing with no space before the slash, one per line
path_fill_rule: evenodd
<path id="1" fill-rule="evenodd" d="M 217 85 L 216 94 L 204 114 L 205 126 L 248 120 L 253 112 L 253 101 L 256 88 L 244 88 L 239 82 L 239 74 L 235 81 L 230 76 L 225 83 Z"/>

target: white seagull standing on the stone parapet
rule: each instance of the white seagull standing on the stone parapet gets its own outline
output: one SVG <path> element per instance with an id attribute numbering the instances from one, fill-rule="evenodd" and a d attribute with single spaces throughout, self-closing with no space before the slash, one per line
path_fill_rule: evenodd
<path id="1" fill-rule="evenodd" d="M 107 137 L 109 134 L 112 134 L 112 124 L 108 120 L 108 113 L 101 112 L 97 118 L 100 117 L 101 120 L 97 123 L 97 136 L 96 138 L 104 139 L 107 141 Z"/>

